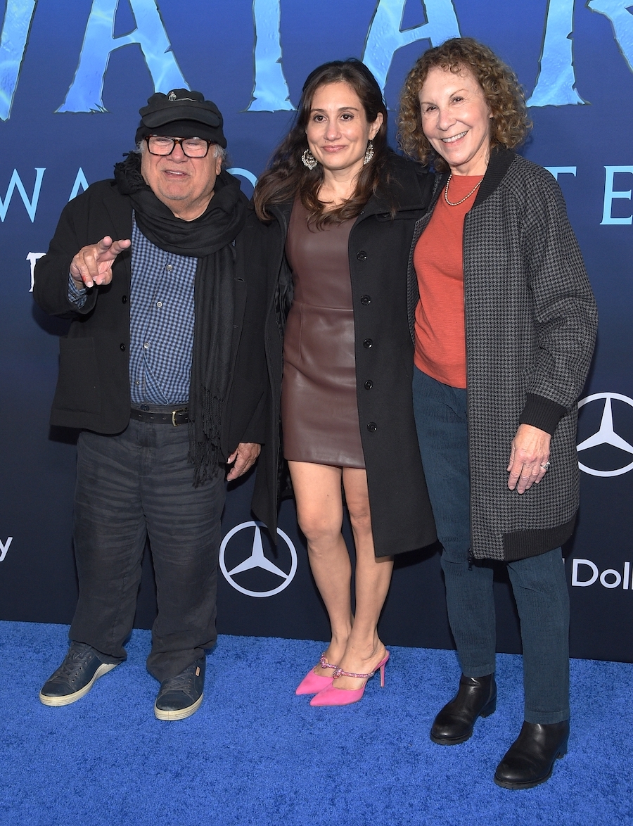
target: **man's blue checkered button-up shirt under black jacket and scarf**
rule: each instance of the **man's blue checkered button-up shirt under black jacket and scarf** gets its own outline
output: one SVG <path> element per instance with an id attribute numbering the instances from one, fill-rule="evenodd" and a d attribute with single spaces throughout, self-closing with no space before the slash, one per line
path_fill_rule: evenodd
<path id="1" fill-rule="evenodd" d="M 152 244 L 132 225 L 130 397 L 133 405 L 183 405 L 189 399 L 193 287 L 198 259 Z M 68 283 L 77 306 L 85 290 Z"/>

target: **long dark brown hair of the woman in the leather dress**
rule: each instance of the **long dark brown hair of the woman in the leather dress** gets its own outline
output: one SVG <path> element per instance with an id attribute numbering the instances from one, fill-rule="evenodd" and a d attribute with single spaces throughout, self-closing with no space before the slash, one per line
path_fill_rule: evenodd
<path id="1" fill-rule="evenodd" d="M 324 180 L 321 164 L 307 169 L 301 163 L 301 155 L 308 149 L 305 128 L 308 126 L 314 93 L 329 83 L 347 83 L 357 93 L 369 123 L 376 121 L 382 112 L 382 124 L 373 139 L 374 157 L 359 173 L 356 191 L 341 207 L 326 211 L 319 201 L 319 188 Z M 356 217 L 375 194 L 380 183 L 385 183 L 385 164 L 389 154 L 387 147 L 387 107 L 376 78 L 366 65 L 356 58 L 332 60 L 314 69 L 308 75 L 301 93 L 299 110 L 291 131 L 272 155 L 266 172 L 257 182 L 253 202 L 257 216 L 271 221 L 268 207 L 294 200 L 297 195 L 309 211 L 310 221 L 321 227 Z"/>

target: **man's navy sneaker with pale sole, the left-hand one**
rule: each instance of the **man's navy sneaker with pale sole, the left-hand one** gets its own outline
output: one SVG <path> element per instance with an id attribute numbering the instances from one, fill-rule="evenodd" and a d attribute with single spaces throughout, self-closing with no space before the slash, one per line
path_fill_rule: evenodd
<path id="1" fill-rule="evenodd" d="M 44 705 L 70 705 L 81 700 L 100 676 L 116 668 L 118 662 L 103 662 L 92 646 L 70 643 L 64 662 L 42 686 Z"/>

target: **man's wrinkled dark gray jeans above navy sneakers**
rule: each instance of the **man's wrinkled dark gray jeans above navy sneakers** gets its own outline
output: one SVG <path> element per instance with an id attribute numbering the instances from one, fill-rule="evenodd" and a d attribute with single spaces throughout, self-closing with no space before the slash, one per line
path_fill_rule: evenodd
<path id="1" fill-rule="evenodd" d="M 110 662 L 125 659 L 145 539 L 154 563 L 158 616 L 147 667 L 176 676 L 215 643 L 224 475 L 194 488 L 187 425 L 130 420 L 114 436 L 80 434 L 74 545 L 79 601 L 70 638 Z"/>

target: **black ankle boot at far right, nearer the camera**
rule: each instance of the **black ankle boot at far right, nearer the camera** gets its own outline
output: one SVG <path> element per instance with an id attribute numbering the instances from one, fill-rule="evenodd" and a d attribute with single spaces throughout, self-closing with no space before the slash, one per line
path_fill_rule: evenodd
<path id="1" fill-rule="evenodd" d="M 521 733 L 494 772 L 494 782 L 504 789 L 531 789 L 545 783 L 556 757 L 565 757 L 568 738 L 569 720 L 523 723 Z"/>

